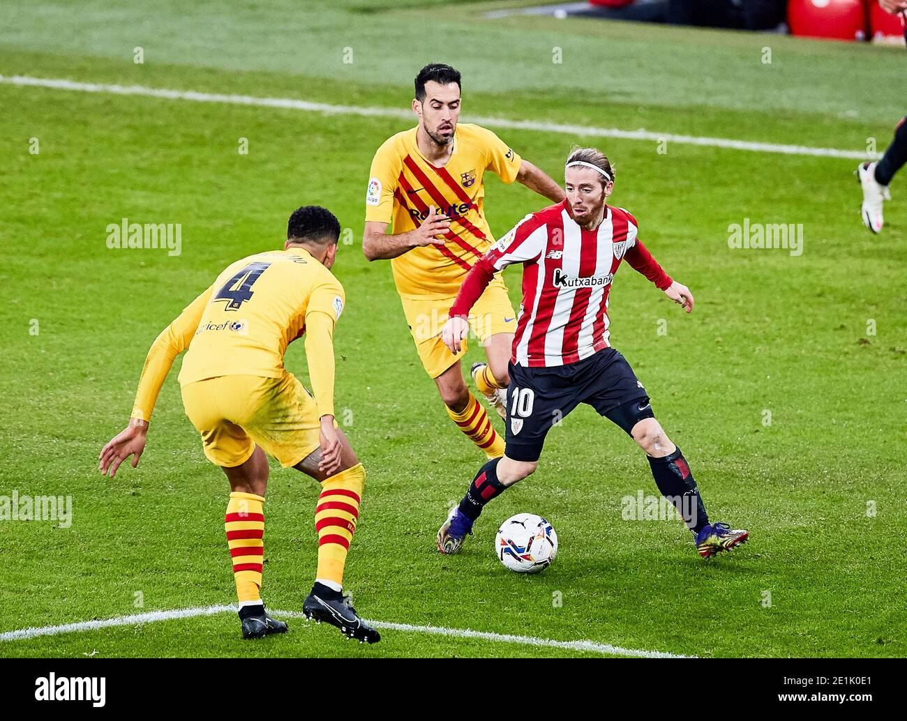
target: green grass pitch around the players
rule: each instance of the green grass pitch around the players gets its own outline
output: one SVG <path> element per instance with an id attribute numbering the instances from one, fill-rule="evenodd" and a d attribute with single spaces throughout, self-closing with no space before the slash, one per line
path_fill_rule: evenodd
<path id="1" fill-rule="evenodd" d="M 0 74 L 406 108 L 414 73 L 443 61 L 463 72 L 463 122 L 853 151 L 872 138 L 882 151 L 905 112 L 896 49 L 483 15 L 512 5 L 219 0 L 146 14 L 125 0 L 36 1 L 0 11 Z M 67 528 L 0 521 L 0 632 L 235 600 L 228 486 L 182 412 L 179 362 L 139 468 L 110 480 L 96 459 L 161 328 L 230 261 L 278 247 L 292 209 L 317 203 L 350 239 L 335 268 L 348 299 L 336 399 L 368 470 L 346 572 L 364 616 L 702 657 L 907 655 L 907 180 L 873 237 L 856 161 L 499 131 L 555 178 L 575 141 L 615 161 L 613 202 L 697 307 L 686 317 L 624 268 L 612 342 L 710 515 L 751 542 L 706 563 L 677 521 L 622 520 L 621 498 L 655 484 L 639 449 L 584 408 L 551 433 L 539 471 L 488 507 L 463 554 L 444 558 L 434 532 L 483 456 L 418 363 L 389 265 L 360 248 L 372 154 L 409 123 L 5 83 L 0 107 L 0 496 L 73 500 Z M 498 236 L 544 204 L 519 185 L 487 189 Z M 123 218 L 180 223 L 180 255 L 106 248 L 107 224 Z M 728 248 L 727 227 L 744 219 L 802 224 L 802 255 Z M 519 273 L 505 276 L 515 301 Z M 287 364 L 306 377 L 301 347 Z M 263 592 L 274 609 L 300 609 L 311 585 L 316 498 L 307 477 L 272 467 Z M 516 512 L 559 533 L 540 575 L 494 557 L 494 532 Z M 392 630 L 365 648 L 299 619 L 290 631 L 242 642 L 220 614 L 5 640 L 0 657 L 589 655 Z"/>

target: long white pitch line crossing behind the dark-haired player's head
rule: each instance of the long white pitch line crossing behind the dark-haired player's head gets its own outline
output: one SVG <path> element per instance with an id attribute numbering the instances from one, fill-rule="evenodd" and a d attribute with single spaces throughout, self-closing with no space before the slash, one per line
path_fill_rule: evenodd
<path id="1" fill-rule="evenodd" d="M 283 108 L 305 112 L 323 112 L 331 115 L 362 115 L 367 117 L 398 118 L 413 120 L 413 113 L 399 108 L 361 107 L 358 105 L 332 105 L 326 102 L 310 102 L 294 98 L 263 98 L 254 95 L 224 93 L 199 93 L 196 91 L 147 88 L 142 85 L 115 85 L 105 83 L 76 83 L 71 80 L 34 78 L 27 75 L 0 75 L 0 83 L 26 87 L 53 88 L 80 93 L 109 93 L 113 95 L 141 95 L 166 100 L 188 100 L 193 102 L 221 102 L 233 105 L 252 105 L 264 108 Z M 805 145 L 778 145 L 771 142 L 736 141 L 730 138 L 707 138 L 697 135 L 675 135 L 670 132 L 649 132 L 645 130 L 622 131 L 617 128 L 597 128 L 590 125 L 569 125 L 558 122 L 537 122 L 511 120 L 507 118 L 470 117 L 470 122 L 493 128 L 558 132 L 566 135 L 618 138 L 629 141 L 676 142 L 680 145 L 698 145 L 709 148 L 726 148 L 735 151 L 769 152 L 782 155 L 808 155 L 820 158 L 845 158 L 849 160 L 875 160 L 879 154 L 865 151 L 844 151 L 835 148 L 812 148 Z"/>

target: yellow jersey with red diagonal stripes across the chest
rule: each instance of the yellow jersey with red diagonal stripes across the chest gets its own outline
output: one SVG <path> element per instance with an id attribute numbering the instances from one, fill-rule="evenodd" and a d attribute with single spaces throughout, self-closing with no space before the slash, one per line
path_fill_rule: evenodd
<path id="1" fill-rule="evenodd" d="M 473 263 L 494 242 L 483 212 L 484 173 L 512 183 L 521 159 L 493 132 L 460 123 L 453 153 L 436 168 L 419 151 L 416 128 L 398 132 L 375 152 L 366 192 L 366 222 L 390 223 L 392 232 L 418 228 L 434 205 L 450 216 L 446 242 L 413 248 L 391 260 L 403 297 L 454 297 Z"/>

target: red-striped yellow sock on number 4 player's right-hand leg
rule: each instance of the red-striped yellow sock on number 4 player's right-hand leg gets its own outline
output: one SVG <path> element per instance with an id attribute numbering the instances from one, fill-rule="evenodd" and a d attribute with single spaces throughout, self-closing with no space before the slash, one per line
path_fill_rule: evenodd
<path id="1" fill-rule="evenodd" d="M 321 482 L 321 495 L 315 507 L 318 533 L 318 570 L 316 580 L 343 586 L 346 553 L 356 532 L 359 503 L 366 485 L 366 469 L 356 463 Z"/>

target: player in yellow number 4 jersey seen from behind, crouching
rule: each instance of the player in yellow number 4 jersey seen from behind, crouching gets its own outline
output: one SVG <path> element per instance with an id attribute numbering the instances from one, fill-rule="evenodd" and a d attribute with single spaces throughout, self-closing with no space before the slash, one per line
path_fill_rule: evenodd
<path id="1" fill-rule="evenodd" d="M 326 621 L 360 642 L 380 638 L 341 592 L 366 471 L 334 422 L 333 335 L 345 296 L 330 268 L 339 237 L 330 211 L 306 206 L 290 216 L 283 250 L 225 268 L 154 341 L 129 425 L 101 452 L 101 472 L 111 477 L 130 456 L 138 465 L 161 385 L 188 348 L 182 402 L 205 455 L 229 481 L 224 523 L 244 638 L 287 630 L 268 616 L 260 596 L 266 452 L 321 483 L 318 568 L 303 603 L 307 619 Z M 314 398 L 283 364 L 287 346 L 304 334 Z"/>

